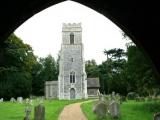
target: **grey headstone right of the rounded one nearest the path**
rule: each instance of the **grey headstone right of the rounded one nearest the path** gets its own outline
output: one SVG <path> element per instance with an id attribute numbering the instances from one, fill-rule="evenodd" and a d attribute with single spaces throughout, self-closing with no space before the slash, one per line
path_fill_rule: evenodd
<path id="1" fill-rule="evenodd" d="M 120 116 L 120 107 L 119 107 L 119 104 L 116 101 L 112 101 L 109 104 L 108 109 L 109 109 L 109 113 L 110 113 L 111 117 L 119 118 L 119 116 Z"/>

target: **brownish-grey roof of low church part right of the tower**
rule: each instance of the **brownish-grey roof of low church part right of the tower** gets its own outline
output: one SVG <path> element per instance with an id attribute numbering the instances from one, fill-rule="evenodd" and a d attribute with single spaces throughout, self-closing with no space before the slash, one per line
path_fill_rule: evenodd
<path id="1" fill-rule="evenodd" d="M 99 78 L 87 78 L 87 88 L 100 87 Z"/>

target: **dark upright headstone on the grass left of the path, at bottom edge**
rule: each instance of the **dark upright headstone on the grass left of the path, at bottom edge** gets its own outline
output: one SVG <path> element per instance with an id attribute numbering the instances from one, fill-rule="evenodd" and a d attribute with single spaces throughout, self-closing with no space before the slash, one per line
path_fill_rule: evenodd
<path id="1" fill-rule="evenodd" d="M 45 107 L 38 105 L 34 108 L 34 120 L 45 120 Z"/>

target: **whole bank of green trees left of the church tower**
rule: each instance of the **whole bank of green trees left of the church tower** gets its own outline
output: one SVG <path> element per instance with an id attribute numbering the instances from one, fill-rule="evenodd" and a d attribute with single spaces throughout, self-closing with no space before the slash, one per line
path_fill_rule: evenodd
<path id="1" fill-rule="evenodd" d="M 0 98 L 44 95 L 45 81 L 58 79 L 58 62 L 51 55 L 37 58 L 14 34 L 1 44 L 0 57 Z"/>

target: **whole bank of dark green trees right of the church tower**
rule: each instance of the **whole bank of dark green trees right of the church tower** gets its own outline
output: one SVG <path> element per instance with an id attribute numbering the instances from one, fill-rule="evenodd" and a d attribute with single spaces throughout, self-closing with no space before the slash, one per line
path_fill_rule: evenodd
<path id="1" fill-rule="evenodd" d="M 136 92 L 141 96 L 156 95 L 159 80 L 155 77 L 151 62 L 136 47 L 127 44 L 127 51 L 120 48 L 104 50 L 106 61 L 96 65 L 95 61 L 86 62 L 87 77 L 100 78 L 100 91 L 112 91 L 127 95 Z"/>

